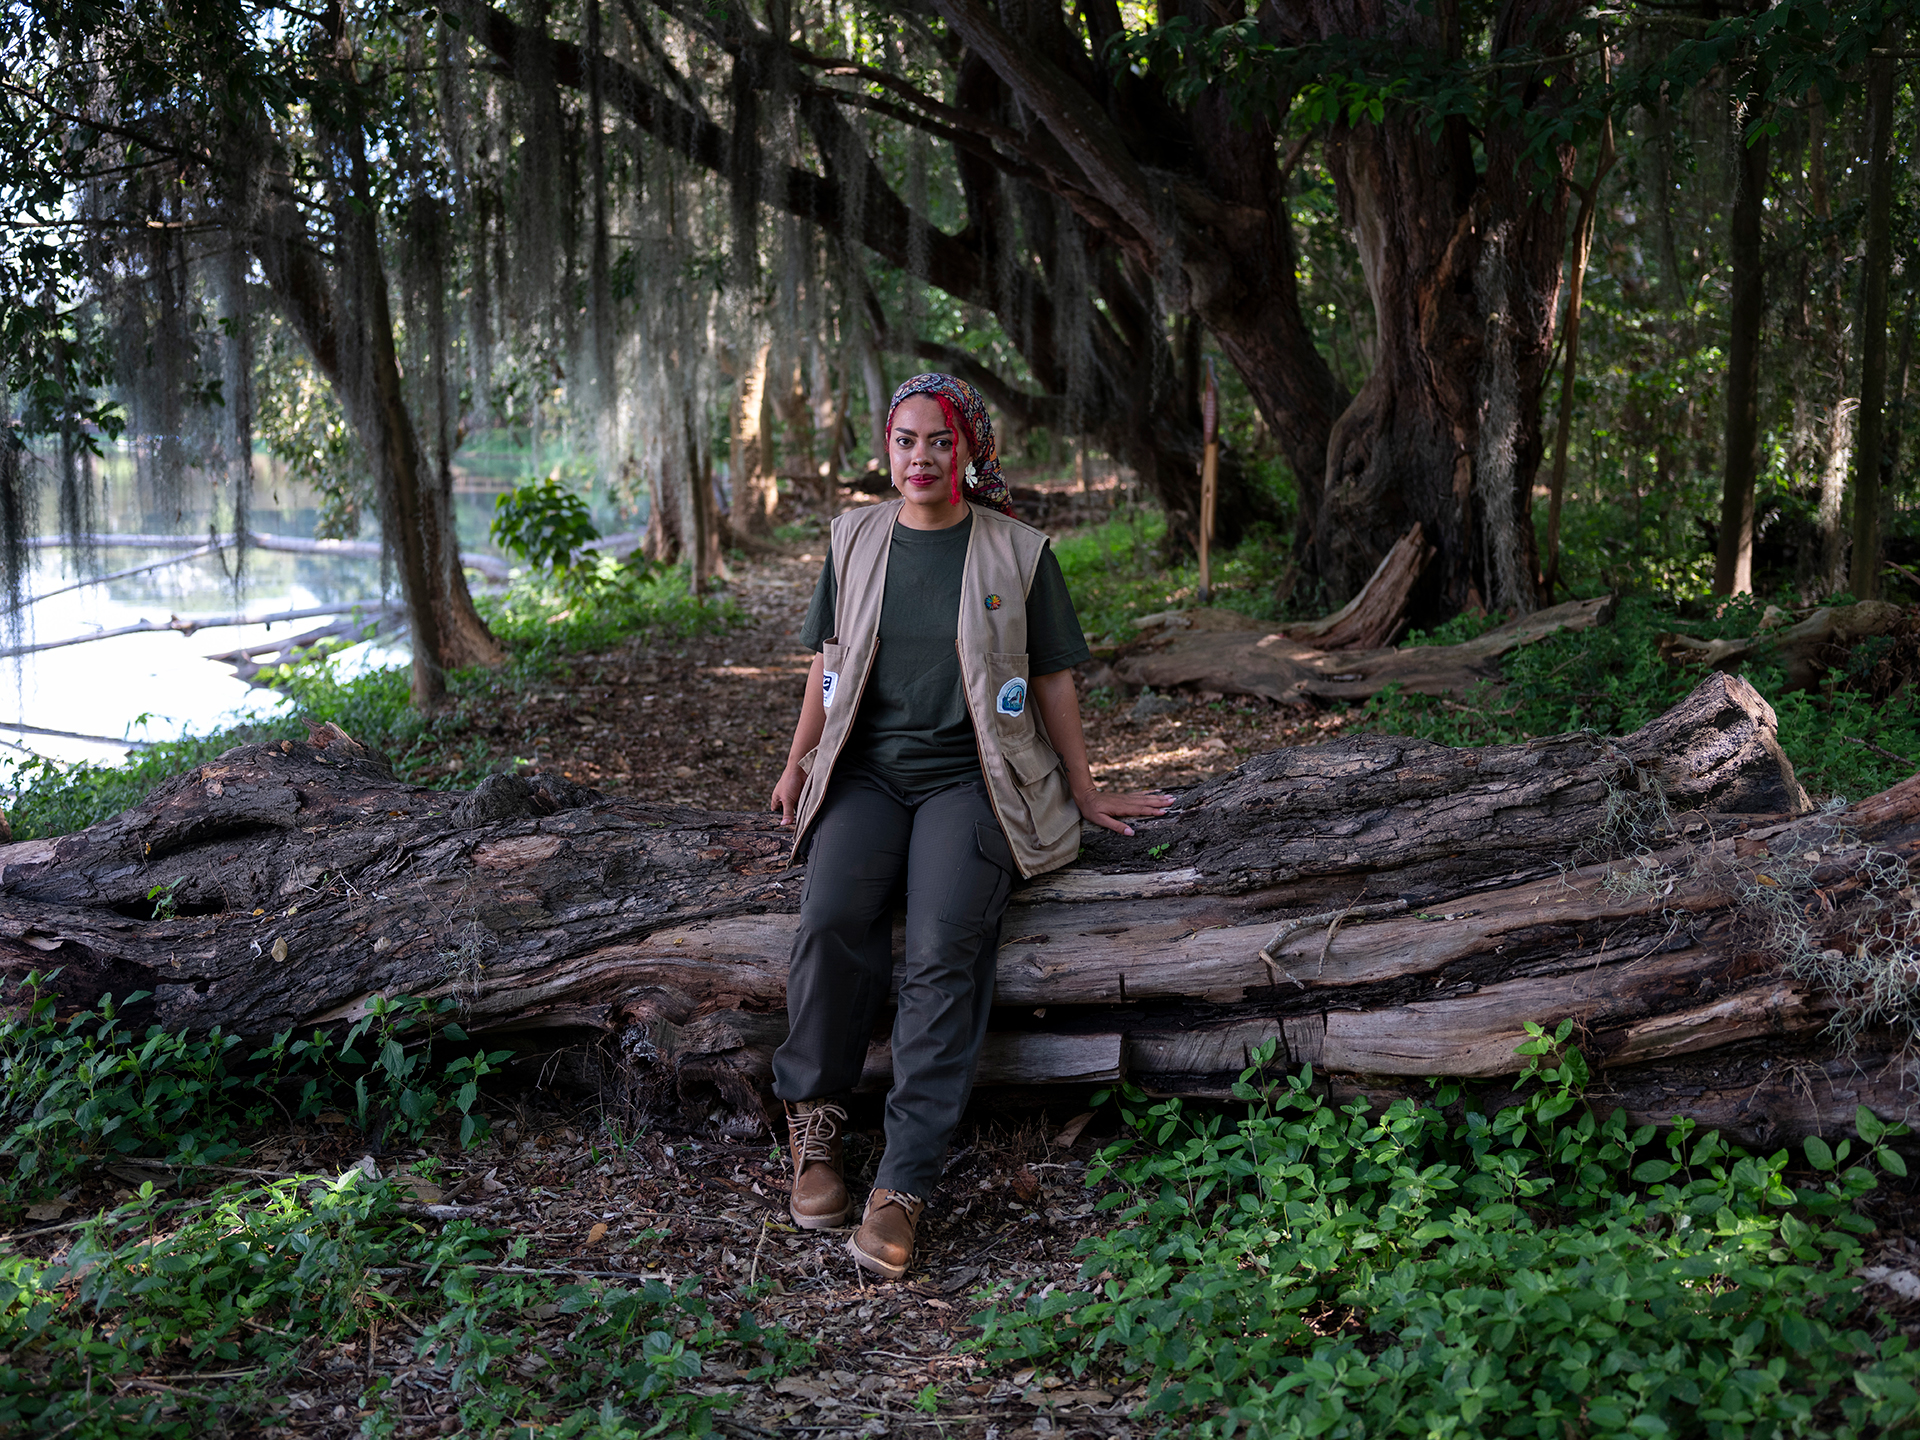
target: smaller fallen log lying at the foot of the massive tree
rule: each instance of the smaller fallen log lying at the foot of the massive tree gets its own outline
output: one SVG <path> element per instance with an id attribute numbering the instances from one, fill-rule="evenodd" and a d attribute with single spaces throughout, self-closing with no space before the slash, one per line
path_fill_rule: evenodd
<path id="1" fill-rule="evenodd" d="M 1363 701 L 1388 685 L 1461 697 L 1500 682 L 1501 655 L 1563 630 L 1605 624 L 1611 611 L 1613 597 L 1603 595 L 1534 611 L 1461 645 L 1338 651 L 1231 611 L 1171 611 L 1140 616 L 1156 622 L 1156 634 L 1116 657 L 1114 676 L 1127 685 L 1198 685 L 1283 705 Z"/>

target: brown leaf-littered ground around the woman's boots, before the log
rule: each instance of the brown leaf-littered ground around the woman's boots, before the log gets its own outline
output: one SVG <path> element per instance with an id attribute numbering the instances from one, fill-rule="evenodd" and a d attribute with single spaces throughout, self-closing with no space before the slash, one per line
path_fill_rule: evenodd
<path id="1" fill-rule="evenodd" d="M 718 1400 L 714 1425 L 722 1434 L 1133 1434 L 1127 1415 L 1144 1386 L 1100 1388 L 993 1369 L 964 1350 L 977 1334 L 970 1317 L 983 1284 L 1068 1283 L 1077 1273 L 1073 1246 L 1096 1229 L 1094 1194 L 1083 1185 L 1096 1137 L 1058 1146 L 1050 1144 L 1058 1121 L 1039 1112 L 1012 1121 L 977 1117 L 956 1140 L 931 1196 L 912 1269 L 889 1284 L 854 1267 L 845 1248 L 851 1229 L 801 1231 L 791 1223 L 785 1165 L 772 1140 L 726 1142 L 672 1131 L 618 1137 L 591 1096 L 566 1106 L 528 1092 L 492 1110 L 493 1137 L 470 1150 L 403 1148 L 369 1162 L 361 1158 L 365 1140 L 349 1127 L 296 1125 L 263 1137 L 242 1162 L 244 1173 L 328 1175 L 371 1164 L 403 1196 L 459 1204 L 474 1223 L 503 1235 L 499 1254 L 511 1261 L 490 1269 L 545 1277 L 547 1288 L 528 1294 L 528 1302 L 564 1300 L 559 1286 L 566 1283 L 701 1279 L 701 1298 L 722 1331 L 751 1313 L 760 1327 L 780 1327 L 804 1346 L 801 1363 L 770 1382 L 755 1382 L 743 1369 L 756 1363 L 755 1352 L 707 1348 L 703 1375 L 684 1388 Z M 879 1162 L 877 1114 L 866 1119 L 872 1129 L 856 1129 L 847 1144 L 849 1188 L 858 1196 Z M 115 1181 L 167 1181 L 163 1167 L 119 1164 L 109 1171 L 67 1190 L 67 1208 L 90 1213 L 131 1200 Z M 209 1177 L 175 1198 L 213 1188 Z M 40 1240 L 8 1238 L 27 1254 L 58 1258 L 71 1240 L 58 1233 L 65 1229 L 54 1227 Z M 480 1432 L 472 1428 L 474 1388 L 451 1384 L 457 1357 L 436 1356 L 422 1340 L 444 1304 L 407 1306 L 407 1294 L 394 1284 L 367 1300 L 378 1302 L 380 1313 L 371 1331 L 340 1344 L 303 1346 L 292 1375 L 246 1405 L 253 1423 L 234 1413 L 230 1432 L 324 1440 Z M 490 1331 L 518 1327 L 518 1342 L 480 1380 L 492 1392 L 488 1411 L 526 1413 L 513 1396 L 522 1388 L 538 1411 L 541 1371 L 549 1356 L 559 1361 L 572 1323 L 563 1304 L 507 1304 L 488 1319 Z M 196 1375 L 200 1365 L 184 1363 L 179 1373 L 152 1365 L 115 1388 L 129 1398 L 165 1396 L 169 1386 L 207 1379 Z M 165 1415 L 163 1407 L 159 1419 Z"/>

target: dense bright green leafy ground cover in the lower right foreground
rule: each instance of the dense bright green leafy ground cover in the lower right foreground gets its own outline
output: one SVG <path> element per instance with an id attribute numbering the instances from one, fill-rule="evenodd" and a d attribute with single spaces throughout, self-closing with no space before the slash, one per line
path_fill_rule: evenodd
<path id="1" fill-rule="evenodd" d="M 1553 1033 L 1540 1087 L 1484 1116 L 1334 1108 L 1311 1068 L 1235 1087 L 1244 1117 L 1148 1104 L 1089 1171 L 1114 1185 L 1081 1283 L 1004 1286 L 977 1315 L 995 1361 L 1146 1379 L 1146 1415 L 1194 1436 L 1864 1436 L 1912 1415 L 1920 1356 L 1876 1340 L 1843 1142 L 1755 1158 L 1582 1106 Z M 1542 1064 L 1546 1062 L 1546 1064 Z M 1899 1135 L 1862 1110 L 1885 1169 Z M 1862 1156 L 1864 1158 L 1864 1156 Z"/>

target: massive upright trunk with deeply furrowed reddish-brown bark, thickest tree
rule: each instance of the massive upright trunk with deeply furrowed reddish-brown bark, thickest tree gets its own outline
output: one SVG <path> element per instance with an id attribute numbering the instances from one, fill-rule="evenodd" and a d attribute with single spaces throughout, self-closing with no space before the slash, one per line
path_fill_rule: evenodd
<path id="1" fill-rule="evenodd" d="M 1496 54 L 1559 12 L 1505 6 Z M 1450 6 L 1390 21 L 1373 0 L 1342 0 L 1315 15 L 1329 36 L 1404 31 L 1415 46 L 1459 46 Z M 1565 88 L 1571 67 L 1517 75 L 1515 98 L 1528 109 L 1557 104 L 1551 83 Z M 1411 109 L 1334 131 L 1329 161 L 1377 332 L 1373 374 L 1327 440 L 1315 555 L 1334 597 L 1354 593 L 1419 522 L 1438 549 L 1421 618 L 1475 605 L 1524 614 L 1538 603 L 1536 397 L 1551 357 L 1569 159 L 1542 184 L 1519 125 L 1501 125 L 1486 134 L 1482 171 L 1465 119 L 1434 132 Z"/>

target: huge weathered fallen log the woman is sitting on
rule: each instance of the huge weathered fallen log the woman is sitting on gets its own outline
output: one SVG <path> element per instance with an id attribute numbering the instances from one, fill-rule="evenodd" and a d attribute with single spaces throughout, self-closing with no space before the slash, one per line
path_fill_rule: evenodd
<path id="1" fill-rule="evenodd" d="M 1776 931 L 1805 904 L 1797 952 L 1910 952 L 1920 914 L 1882 910 L 1889 877 L 1912 895 L 1916 849 L 1920 776 L 1811 812 L 1772 708 L 1722 674 L 1620 739 L 1273 751 L 1133 837 L 1089 829 L 1079 862 L 1016 891 L 981 1083 L 1219 1096 L 1271 1039 L 1336 1087 L 1498 1087 L 1528 1021 L 1572 1018 L 1636 1116 L 1755 1142 L 1857 1104 L 1905 1119 L 1901 1037 L 1837 1056 L 1847 996 L 1795 977 Z M 753 1131 L 801 877 L 768 816 L 545 776 L 424 791 L 326 726 L 0 849 L 0 968 L 60 968 L 65 1004 L 150 991 L 134 1023 L 240 1035 L 455 996 L 490 1043 L 597 1046 L 655 1104 Z M 866 1083 L 887 1066 L 881 1031 Z"/>

